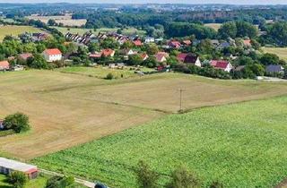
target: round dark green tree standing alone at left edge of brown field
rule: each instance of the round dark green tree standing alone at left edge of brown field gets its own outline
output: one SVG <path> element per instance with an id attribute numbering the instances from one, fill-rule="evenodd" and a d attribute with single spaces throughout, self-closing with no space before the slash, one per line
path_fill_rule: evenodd
<path id="1" fill-rule="evenodd" d="M 22 113 L 8 115 L 4 118 L 4 128 L 13 129 L 15 132 L 30 130 L 29 117 Z"/>

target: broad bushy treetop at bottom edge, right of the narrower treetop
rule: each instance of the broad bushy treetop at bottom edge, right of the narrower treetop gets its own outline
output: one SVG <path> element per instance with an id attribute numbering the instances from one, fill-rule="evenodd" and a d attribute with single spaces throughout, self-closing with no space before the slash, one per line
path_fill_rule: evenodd
<path id="1" fill-rule="evenodd" d="M 178 167 L 172 175 L 168 188 L 196 188 L 200 187 L 200 181 L 186 167 Z"/>

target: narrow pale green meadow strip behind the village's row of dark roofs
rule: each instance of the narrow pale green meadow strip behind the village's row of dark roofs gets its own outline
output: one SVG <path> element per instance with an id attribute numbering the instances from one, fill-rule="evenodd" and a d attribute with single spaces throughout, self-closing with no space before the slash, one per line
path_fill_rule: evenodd
<path id="1" fill-rule="evenodd" d="M 91 29 L 83 29 L 83 28 L 70 28 L 70 29 L 65 28 L 65 27 L 54 27 L 54 28 L 59 30 L 60 32 L 62 32 L 64 35 L 67 32 L 79 33 L 80 35 L 83 35 L 83 33 L 87 32 L 87 31 L 91 31 L 95 35 L 98 35 L 99 32 L 116 32 L 118 30 L 118 28 L 100 28 L 100 29 L 97 29 L 96 31 L 91 30 Z M 125 34 L 125 35 L 132 35 L 132 34 L 135 34 L 135 32 L 138 35 L 145 35 L 144 30 L 137 30 L 135 28 L 128 28 L 128 29 L 123 30 L 123 34 Z"/>

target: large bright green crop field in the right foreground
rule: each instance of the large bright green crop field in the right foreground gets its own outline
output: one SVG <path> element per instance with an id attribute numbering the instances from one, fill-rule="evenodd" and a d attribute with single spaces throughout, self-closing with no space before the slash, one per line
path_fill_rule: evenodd
<path id="1" fill-rule="evenodd" d="M 98 141 L 32 162 L 112 187 L 135 187 L 143 159 L 160 184 L 179 165 L 206 187 L 273 187 L 287 176 L 287 97 L 196 109 L 168 115 Z"/>

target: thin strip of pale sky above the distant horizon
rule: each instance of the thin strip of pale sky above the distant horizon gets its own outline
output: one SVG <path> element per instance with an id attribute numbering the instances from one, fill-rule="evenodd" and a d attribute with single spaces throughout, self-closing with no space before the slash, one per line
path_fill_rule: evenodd
<path id="1" fill-rule="evenodd" d="M 287 0 L 0 0 L 0 3 L 112 3 L 112 4 L 287 4 Z"/>

